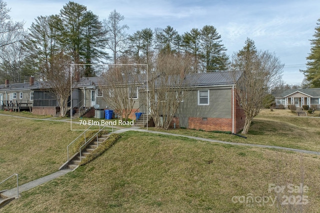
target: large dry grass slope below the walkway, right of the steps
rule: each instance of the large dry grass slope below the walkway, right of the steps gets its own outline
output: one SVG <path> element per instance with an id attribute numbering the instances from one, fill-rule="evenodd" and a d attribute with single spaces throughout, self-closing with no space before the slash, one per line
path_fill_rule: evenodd
<path id="1" fill-rule="evenodd" d="M 320 159 L 302 158 L 309 212 L 315 212 L 320 208 Z M 275 177 L 281 175 L 298 185 L 299 165 L 296 153 L 125 132 L 93 162 L 22 193 L 3 213 L 274 213 L 275 206 L 247 206 L 233 203 L 232 197 L 274 197 L 268 184 L 277 183 Z"/>

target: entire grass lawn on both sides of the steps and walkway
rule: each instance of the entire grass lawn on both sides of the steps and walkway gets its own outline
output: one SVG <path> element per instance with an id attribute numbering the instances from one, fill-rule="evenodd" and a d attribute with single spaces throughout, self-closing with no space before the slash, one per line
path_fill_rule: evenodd
<path id="1" fill-rule="evenodd" d="M 65 122 L 0 118 L 1 180 L 18 173 L 23 184 L 55 172 L 65 161 L 66 145 L 79 135 Z M 320 151 L 319 124 L 318 118 L 261 113 L 254 119 L 247 139 L 185 129 L 170 132 Z M 21 198 L 1 211 L 285 212 L 290 205 L 277 205 L 285 204 L 285 198 L 293 201 L 287 184 L 295 187 L 304 183 L 308 187 L 303 194 L 307 204 L 302 207 L 304 212 L 314 213 L 320 212 L 319 165 L 320 156 L 130 131 L 121 133 L 118 142 L 93 162 L 21 193 Z M 4 189 L 13 188 L 12 182 Z M 271 184 L 286 190 L 269 192 Z M 299 196 L 297 192 L 293 195 L 294 199 Z M 250 196 L 255 202 L 246 202 Z M 279 202 L 272 206 L 271 200 L 276 197 Z M 236 202 L 241 201 L 239 198 L 243 202 Z M 262 205 L 261 198 L 268 198 L 268 202 Z"/>

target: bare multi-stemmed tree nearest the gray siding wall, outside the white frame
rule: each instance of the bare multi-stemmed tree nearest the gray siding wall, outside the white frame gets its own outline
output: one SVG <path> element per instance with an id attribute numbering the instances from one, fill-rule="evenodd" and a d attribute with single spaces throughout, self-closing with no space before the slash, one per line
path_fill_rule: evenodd
<path id="1" fill-rule="evenodd" d="M 163 53 L 148 74 L 147 99 L 156 128 L 168 129 L 180 103 L 190 91 L 188 78 L 192 58 L 188 55 Z"/>

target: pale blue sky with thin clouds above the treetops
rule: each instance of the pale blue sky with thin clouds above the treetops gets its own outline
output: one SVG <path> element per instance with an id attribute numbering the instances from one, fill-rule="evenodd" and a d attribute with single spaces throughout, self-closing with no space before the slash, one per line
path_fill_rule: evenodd
<path id="1" fill-rule="evenodd" d="M 13 21 L 27 29 L 40 15 L 58 14 L 68 0 L 3 0 Z M 244 46 L 246 38 L 257 49 L 274 53 L 284 64 L 283 81 L 303 80 L 310 39 L 320 18 L 320 0 L 74 0 L 107 19 L 115 9 L 132 34 L 144 28 L 172 26 L 179 34 L 212 25 L 221 35 L 226 53 Z"/>

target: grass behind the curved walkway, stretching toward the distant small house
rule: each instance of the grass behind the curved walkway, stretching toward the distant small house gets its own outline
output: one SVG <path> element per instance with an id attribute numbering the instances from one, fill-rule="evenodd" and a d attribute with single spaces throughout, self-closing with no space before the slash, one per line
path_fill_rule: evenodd
<path id="1" fill-rule="evenodd" d="M 157 130 L 155 128 L 148 129 Z M 263 110 L 253 119 L 249 132 L 245 135 L 246 139 L 231 134 L 190 129 L 170 129 L 165 132 L 227 142 L 262 144 L 320 152 L 320 118 L 292 116 L 289 110 L 273 110 L 273 112 Z"/>

